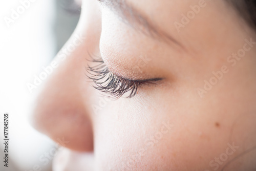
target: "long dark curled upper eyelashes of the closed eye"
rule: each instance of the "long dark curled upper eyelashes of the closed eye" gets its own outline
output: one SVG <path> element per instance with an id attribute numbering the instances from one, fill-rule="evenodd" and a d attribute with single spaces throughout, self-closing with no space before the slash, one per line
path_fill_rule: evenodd
<path id="1" fill-rule="evenodd" d="M 98 65 L 87 67 L 87 71 L 90 74 L 88 77 L 95 83 L 95 86 L 93 86 L 95 89 L 108 93 L 109 97 L 119 98 L 125 93 L 131 92 L 127 96 L 127 98 L 131 98 L 136 95 L 141 84 L 154 83 L 155 81 L 160 80 L 160 78 L 146 80 L 131 80 L 122 78 L 110 72 L 101 57 L 93 58 L 92 62 L 96 62 Z"/>

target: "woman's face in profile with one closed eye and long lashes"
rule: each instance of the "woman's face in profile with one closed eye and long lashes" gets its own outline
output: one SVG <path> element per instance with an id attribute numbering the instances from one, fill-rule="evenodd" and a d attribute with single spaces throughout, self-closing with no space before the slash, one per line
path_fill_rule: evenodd
<path id="1" fill-rule="evenodd" d="M 84 0 L 35 103 L 53 169 L 255 169 L 255 46 L 224 1 Z"/>

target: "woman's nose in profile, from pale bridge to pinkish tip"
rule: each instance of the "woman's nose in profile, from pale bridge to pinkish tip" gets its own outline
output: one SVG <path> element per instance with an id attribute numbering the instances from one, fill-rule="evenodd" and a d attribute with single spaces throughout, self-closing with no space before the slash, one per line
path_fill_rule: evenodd
<path id="1" fill-rule="evenodd" d="M 89 54 L 98 52 L 101 30 L 98 4 L 84 2 L 76 30 L 51 62 L 52 72 L 40 86 L 31 120 L 35 129 L 75 151 L 93 151 L 95 90 L 85 73 Z"/>

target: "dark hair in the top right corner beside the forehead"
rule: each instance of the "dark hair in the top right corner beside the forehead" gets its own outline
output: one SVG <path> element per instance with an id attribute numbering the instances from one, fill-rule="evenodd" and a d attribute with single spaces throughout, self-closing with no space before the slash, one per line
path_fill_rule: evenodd
<path id="1" fill-rule="evenodd" d="M 253 30 L 256 30 L 256 0 L 227 0 Z"/>

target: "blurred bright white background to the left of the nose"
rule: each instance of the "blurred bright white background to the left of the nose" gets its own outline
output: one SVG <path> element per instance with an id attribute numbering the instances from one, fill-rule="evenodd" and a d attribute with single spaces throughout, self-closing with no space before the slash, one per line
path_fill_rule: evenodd
<path id="1" fill-rule="evenodd" d="M 31 0 L 32 1 L 32 0 Z M 6 17 L 12 18 L 21 2 L 0 2 L 0 155 L 3 153 L 3 117 L 9 113 L 9 167 L 0 165 L 0 170 L 33 170 L 38 164 L 42 171 L 51 170 L 49 164 L 39 158 L 55 146 L 49 138 L 36 132 L 28 122 L 35 92 L 30 93 L 26 84 L 33 82 L 33 75 L 46 67 L 72 33 L 79 15 L 61 14 L 58 0 L 37 0 L 19 14 L 10 27 Z M 60 2 L 60 1 L 59 1 Z M 66 1 L 67 3 L 67 1 Z M 62 6 L 67 4 L 60 3 Z M 72 13 L 72 9 L 65 9 Z M 59 17 L 60 16 L 60 17 Z M 70 16 L 70 17 L 68 17 Z M 61 19 L 62 18 L 62 19 Z M 73 27 L 65 29 L 61 23 Z M 61 22 L 62 21 L 62 22 Z M 59 31 L 60 30 L 60 31 Z M 58 34 L 56 34 L 58 33 Z M 0 160 L 0 163 L 3 163 Z"/>

